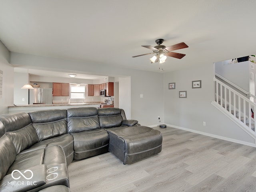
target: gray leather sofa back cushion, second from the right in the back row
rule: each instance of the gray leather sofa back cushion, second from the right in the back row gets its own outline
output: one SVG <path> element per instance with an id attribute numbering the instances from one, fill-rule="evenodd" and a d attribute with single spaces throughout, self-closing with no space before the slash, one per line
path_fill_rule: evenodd
<path id="1" fill-rule="evenodd" d="M 95 107 L 67 109 L 68 132 L 75 133 L 100 128 L 98 111 Z"/>

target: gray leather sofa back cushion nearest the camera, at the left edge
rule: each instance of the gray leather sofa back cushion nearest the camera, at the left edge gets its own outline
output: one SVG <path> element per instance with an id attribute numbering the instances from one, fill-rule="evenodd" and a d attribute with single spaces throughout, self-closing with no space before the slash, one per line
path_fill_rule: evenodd
<path id="1" fill-rule="evenodd" d="M 16 158 L 16 148 L 10 138 L 0 138 L 0 180 L 6 175 L 9 167 Z"/>

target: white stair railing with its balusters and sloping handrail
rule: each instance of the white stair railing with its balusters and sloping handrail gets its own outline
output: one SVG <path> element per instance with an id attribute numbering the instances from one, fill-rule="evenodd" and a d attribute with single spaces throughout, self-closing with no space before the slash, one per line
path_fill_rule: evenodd
<path id="1" fill-rule="evenodd" d="M 255 117 L 252 112 L 255 112 L 256 104 L 215 77 L 214 83 L 216 104 L 228 111 L 230 116 L 239 120 L 245 128 L 255 134 Z"/>

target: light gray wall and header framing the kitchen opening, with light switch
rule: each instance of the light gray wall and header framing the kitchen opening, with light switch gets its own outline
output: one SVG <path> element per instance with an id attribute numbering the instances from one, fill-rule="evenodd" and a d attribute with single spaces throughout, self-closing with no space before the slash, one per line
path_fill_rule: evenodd
<path id="1" fill-rule="evenodd" d="M 158 124 L 157 117 L 161 116 L 162 118 L 164 116 L 162 95 L 163 75 L 160 72 L 110 67 L 106 64 L 62 60 L 58 58 L 48 58 L 14 52 L 11 52 L 11 63 L 22 65 L 26 68 L 41 70 L 84 73 L 120 78 L 130 77 L 131 106 L 127 109 L 126 113 L 130 113 L 130 117 L 138 120 L 140 124 L 148 126 Z M 119 88 L 121 86 L 122 83 L 120 84 L 119 81 Z M 129 89 L 129 87 L 127 88 Z M 143 99 L 140 99 L 141 93 L 144 94 Z M 121 96 L 119 95 L 119 98 L 120 97 Z M 119 107 L 123 108 L 120 103 Z"/>

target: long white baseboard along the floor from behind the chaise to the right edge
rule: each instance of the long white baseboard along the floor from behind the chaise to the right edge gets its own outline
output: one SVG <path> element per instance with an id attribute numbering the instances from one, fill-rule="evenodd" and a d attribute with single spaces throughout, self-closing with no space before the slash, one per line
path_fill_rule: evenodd
<path id="1" fill-rule="evenodd" d="M 157 127 L 157 126 L 159 126 L 159 125 L 152 125 L 152 126 L 149 126 L 149 127 L 152 128 L 152 127 Z M 201 134 L 201 135 L 205 135 L 205 136 L 209 136 L 209 137 L 213 137 L 213 138 L 217 138 L 217 139 L 222 139 L 222 140 L 226 140 L 226 141 L 230 141 L 230 142 L 234 142 L 234 143 L 239 143 L 239 144 L 243 144 L 243 145 L 247 145 L 247 146 L 251 146 L 251 147 L 256 147 L 256 144 L 250 143 L 250 142 L 240 141 L 240 140 L 236 140 L 236 139 L 232 139 L 232 138 L 228 138 L 228 137 L 214 135 L 214 134 L 201 132 L 201 131 L 197 131 L 197 130 L 192 130 L 192 129 L 179 127 L 179 126 L 175 126 L 175 125 L 170 125 L 170 124 L 166 124 L 166 126 L 173 127 L 173 128 L 176 128 L 176 129 L 185 130 L 185 131 L 189 131 L 189 132 L 193 132 L 193 133 L 197 133 L 197 134 Z"/>

